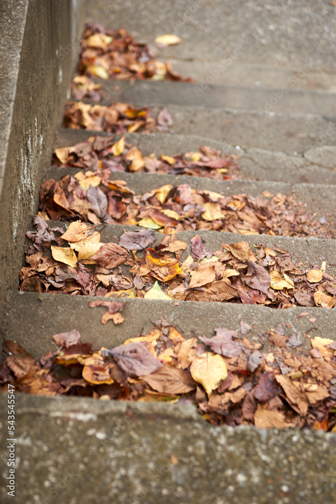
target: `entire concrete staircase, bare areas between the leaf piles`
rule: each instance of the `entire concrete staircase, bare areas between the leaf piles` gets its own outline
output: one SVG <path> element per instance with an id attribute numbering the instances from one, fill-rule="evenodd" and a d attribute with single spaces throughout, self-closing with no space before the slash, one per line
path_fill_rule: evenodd
<path id="1" fill-rule="evenodd" d="M 165 183 L 189 183 L 221 194 L 294 192 L 316 219 L 327 213 L 335 218 L 335 9 L 329 2 L 312 0 L 272 5 L 261 0 L 237 5 L 174 0 L 169 9 L 163 0 L 87 1 L 86 21 L 123 26 L 136 39 L 151 43 L 163 33 L 181 36 L 183 44 L 163 49 L 158 56 L 172 58 L 174 70 L 196 80 L 194 84 L 138 81 L 134 85 L 97 80 L 106 103 L 128 101 L 157 113 L 166 106 L 173 118 L 173 134 L 133 133 L 127 141 L 144 154 L 172 155 L 210 145 L 239 156 L 243 177 L 219 182 L 118 173 L 118 178 L 137 194 Z M 221 70 L 223 59 L 226 67 Z M 71 146 L 90 135 L 59 128 L 54 147 Z M 67 172 L 46 167 L 44 177 L 59 179 Z M 118 241 L 126 228 L 106 226 L 102 239 L 110 241 L 114 235 Z M 327 272 L 336 273 L 334 239 L 242 237 L 215 231 L 181 232 L 179 238 L 189 243 L 195 234 L 204 237 L 207 248 L 218 247 L 222 238 L 228 243 L 243 239 L 251 245 L 267 241 L 270 247 L 277 244 L 291 251 L 303 267 L 325 260 Z M 162 238 L 159 233 L 155 236 Z M 298 317 L 303 311 L 309 311 L 316 322 Z M 300 336 L 313 328 L 314 335 L 336 339 L 336 310 L 327 308 L 276 310 L 190 301 L 175 306 L 173 301 L 131 299 L 123 315 L 122 326 L 103 326 L 101 311 L 89 310 L 88 298 L 11 289 L 2 327 L 8 339 L 15 339 L 36 358 L 50 350 L 55 333 L 76 328 L 83 342 L 111 347 L 142 329 L 150 330 L 151 321 L 159 317 L 178 320 L 186 337 L 211 336 L 215 326 L 238 330 L 243 320 L 257 326 L 256 332 L 281 323 L 285 328 L 290 324 L 291 329 L 285 329 L 288 334 Z M 7 396 L 0 400 L 5 409 Z M 2 447 L 7 437 L 5 413 Z M 213 427 L 183 404 L 19 394 L 16 432 L 17 494 L 19 502 L 27 504 L 336 501 L 336 435 L 331 433 Z M 4 502 L 9 498 L 6 494 L 5 490 Z"/>

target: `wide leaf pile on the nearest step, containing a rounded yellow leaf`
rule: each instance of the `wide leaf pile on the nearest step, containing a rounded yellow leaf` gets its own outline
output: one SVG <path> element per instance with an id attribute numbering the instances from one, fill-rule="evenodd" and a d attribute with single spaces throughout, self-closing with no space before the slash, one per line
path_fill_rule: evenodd
<path id="1" fill-rule="evenodd" d="M 215 336 L 198 336 L 199 343 L 165 320 L 156 324 L 147 335 L 94 352 L 92 343 L 80 342 L 77 330 L 56 334 L 59 348 L 39 362 L 6 341 L 2 390 L 11 383 L 17 392 L 31 394 L 189 403 L 214 425 L 336 431 L 335 341 L 311 338 L 311 350 L 303 352 L 303 342 L 284 336 L 279 325 L 252 341 L 215 328 Z M 240 329 L 246 335 L 252 328 L 241 322 Z M 58 376 L 56 365 L 68 369 L 68 376 L 64 371 Z"/>

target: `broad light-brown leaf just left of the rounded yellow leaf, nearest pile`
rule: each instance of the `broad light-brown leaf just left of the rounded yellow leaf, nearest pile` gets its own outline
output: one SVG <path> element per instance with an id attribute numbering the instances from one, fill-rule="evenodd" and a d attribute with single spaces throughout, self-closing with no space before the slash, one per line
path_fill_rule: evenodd
<path id="1" fill-rule="evenodd" d="M 195 382 L 182 369 L 164 366 L 150 374 L 140 376 L 152 389 L 167 394 L 186 394 L 196 388 Z"/>

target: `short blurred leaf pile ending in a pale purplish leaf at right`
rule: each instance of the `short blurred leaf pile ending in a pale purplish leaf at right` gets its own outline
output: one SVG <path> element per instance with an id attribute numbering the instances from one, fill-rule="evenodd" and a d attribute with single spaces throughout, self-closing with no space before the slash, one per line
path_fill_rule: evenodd
<path id="1" fill-rule="evenodd" d="M 90 105 L 82 101 L 70 101 L 64 111 L 64 127 L 73 130 L 106 131 L 119 135 L 136 131 L 168 131 L 171 124 L 172 119 L 166 108 L 155 120 L 148 107 L 135 107 L 131 103 Z"/>

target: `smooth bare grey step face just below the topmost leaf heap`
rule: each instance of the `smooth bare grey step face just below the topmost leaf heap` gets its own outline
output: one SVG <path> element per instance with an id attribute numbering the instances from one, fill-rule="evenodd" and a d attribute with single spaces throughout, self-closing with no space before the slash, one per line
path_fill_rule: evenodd
<path id="1" fill-rule="evenodd" d="M 299 112 L 301 114 L 336 115 L 336 100 L 332 93 L 317 91 L 264 89 L 260 87 L 209 85 L 206 81 L 155 82 L 155 81 L 104 81 L 95 79 L 104 93 L 104 102 L 130 102 L 198 105 L 203 107 L 258 110 L 268 112 Z"/>

